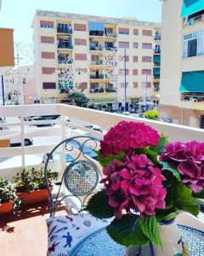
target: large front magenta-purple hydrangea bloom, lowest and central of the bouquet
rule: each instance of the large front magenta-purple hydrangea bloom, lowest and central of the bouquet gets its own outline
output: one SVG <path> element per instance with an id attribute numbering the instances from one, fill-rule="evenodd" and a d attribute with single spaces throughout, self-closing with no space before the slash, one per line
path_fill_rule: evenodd
<path id="1" fill-rule="evenodd" d="M 122 218 L 122 210 L 131 214 L 131 209 L 143 214 L 153 215 L 155 209 L 165 208 L 167 190 L 162 182 L 165 177 L 145 154 L 126 156 L 123 163 L 114 160 L 103 172 L 105 193 L 116 218 Z"/>

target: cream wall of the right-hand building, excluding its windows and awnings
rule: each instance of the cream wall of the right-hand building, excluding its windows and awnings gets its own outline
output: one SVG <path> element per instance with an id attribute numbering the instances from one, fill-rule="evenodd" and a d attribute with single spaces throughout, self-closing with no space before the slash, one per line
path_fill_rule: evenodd
<path id="1" fill-rule="evenodd" d="M 183 0 L 162 3 L 160 112 L 174 123 L 200 127 L 203 102 L 181 100 L 179 87 L 182 73 L 203 70 L 204 55 L 183 58 L 184 35 L 203 31 L 203 23 L 184 26 L 180 18 Z"/>

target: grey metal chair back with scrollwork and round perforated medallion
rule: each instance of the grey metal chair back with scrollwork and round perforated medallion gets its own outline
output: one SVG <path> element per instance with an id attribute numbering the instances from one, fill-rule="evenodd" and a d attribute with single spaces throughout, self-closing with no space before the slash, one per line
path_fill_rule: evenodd
<path id="1" fill-rule="evenodd" d="M 77 201 L 80 202 L 78 210 L 74 206 L 74 203 L 71 205 L 71 214 L 77 214 L 84 209 L 88 201 L 88 196 L 94 193 L 99 183 L 99 176 L 101 176 L 99 167 L 94 163 L 94 160 L 88 156 L 88 154 L 94 152 L 98 145 L 99 139 L 94 137 L 71 137 L 56 145 L 48 154 L 48 159 L 45 162 L 44 175 L 50 199 L 50 218 L 54 217 L 57 207 L 59 207 L 60 202 L 65 200 L 65 198 L 70 198 L 72 201 L 77 199 Z M 65 170 L 61 173 L 59 189 L 54 198 L 48 182 L 47 171 L 49 160 L 52 159 L 59 147 L 65 147 L 64 153 L 75 153 L 75 156 L 71 158 L 68 162 L 68 166 L 66 166 Z M 62 198 L 59 198 L 62 185 L 65 185 L 65 189 L 67 189 L 69 195 L 63 195 Z"/>

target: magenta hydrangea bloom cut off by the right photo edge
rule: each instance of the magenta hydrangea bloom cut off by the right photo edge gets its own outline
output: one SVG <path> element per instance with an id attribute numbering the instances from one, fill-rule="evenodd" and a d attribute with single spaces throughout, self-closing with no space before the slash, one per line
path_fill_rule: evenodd
<path id="1" fill-rule="evenodd" d="M 204 189 L 204 143 L 169 143 L 160 160 L 178 169 L 182 182 L 195 193 Z"/>

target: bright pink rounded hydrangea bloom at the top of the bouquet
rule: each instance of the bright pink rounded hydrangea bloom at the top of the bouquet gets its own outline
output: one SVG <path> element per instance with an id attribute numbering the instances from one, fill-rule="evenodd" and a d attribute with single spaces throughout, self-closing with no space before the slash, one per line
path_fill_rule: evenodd
<path id="1" fill-rule="evenodd" d="M 109 156 L 118 154 L 121 150 L 125 153 L 133 148 L 156 146 L 160 135 L 149 125 L 139 122 L 121 121 L 107 132 L 100 142 L 100 154 Z"/>

